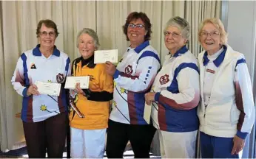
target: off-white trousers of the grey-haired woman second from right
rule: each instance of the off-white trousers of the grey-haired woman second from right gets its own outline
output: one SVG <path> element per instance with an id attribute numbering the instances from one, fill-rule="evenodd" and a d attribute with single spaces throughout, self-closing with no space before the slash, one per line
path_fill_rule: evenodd
<path id="1" fill-rule="evenodd" d="M 195 158 L 198 130 L 192 132 L 158 131 L 162 158 Z"/>

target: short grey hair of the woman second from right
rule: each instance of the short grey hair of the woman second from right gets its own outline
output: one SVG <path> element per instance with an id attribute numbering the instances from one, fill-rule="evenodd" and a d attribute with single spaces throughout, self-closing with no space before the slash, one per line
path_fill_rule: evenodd
<path id="1" fill-rule="evenodd" d="M 179 16 L 175 16 L 169 19 L 166 23 L 166 27 L 164 29 L 164 32 L 166 29 L 168 29 L 169 26 L 176 26 L 178 29 L 181 30 L 181 35 L 186 40 L 189 40 L 190 37 L 190 25 L 189 22 L 186 21 L 186 19 L 181 18 Z"/>

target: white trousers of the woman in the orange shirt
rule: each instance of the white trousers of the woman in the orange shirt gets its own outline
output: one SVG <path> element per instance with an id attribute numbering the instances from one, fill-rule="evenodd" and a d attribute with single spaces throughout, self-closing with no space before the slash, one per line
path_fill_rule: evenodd
<path id="1" fill-rule="evenodd" d="M 70 127 L 72 158 L 104 158 L 106 129 L 79 130 Z"/>

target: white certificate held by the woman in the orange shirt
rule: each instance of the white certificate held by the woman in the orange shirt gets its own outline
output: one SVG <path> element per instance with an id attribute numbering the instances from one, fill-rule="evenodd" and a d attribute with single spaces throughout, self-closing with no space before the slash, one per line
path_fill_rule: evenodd
<path id="1" fill-rule="evenodd" d="M 86 77 L 67 77 L 65 87 L 66 89 L 75 89 L 75 84 L 80 83 L 81 89 L 89 88 L 90 76 Z"/>

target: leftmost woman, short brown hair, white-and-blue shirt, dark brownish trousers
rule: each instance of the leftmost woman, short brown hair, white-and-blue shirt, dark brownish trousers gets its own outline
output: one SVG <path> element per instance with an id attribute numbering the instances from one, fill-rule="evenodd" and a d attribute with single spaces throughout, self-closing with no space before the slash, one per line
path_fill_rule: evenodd
<path id="1" fill-rule="evenodd" d="M 21 119 L 29 158 L 62 158 L 67 127 L 67 101 L 64 88 L 59 96 L 40 94 L 36 81 L 64 83 L 70 73 L 70 58 L 54 45 L 56 24 L 41 20 L 36 29 L 40 42 L 21 54 L 12 84 L 23 96 Z"/>

